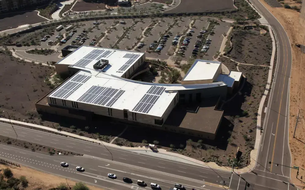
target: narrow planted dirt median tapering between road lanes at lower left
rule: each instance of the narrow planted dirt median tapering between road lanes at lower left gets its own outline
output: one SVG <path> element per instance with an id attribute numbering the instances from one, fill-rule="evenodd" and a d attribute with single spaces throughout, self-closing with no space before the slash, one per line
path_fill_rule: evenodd
<path id="1" fill-rule="evenodd" d="M 67 150 L 62 150 L 58 148 L 53 148 L 37 143 L 32 143 L 28 141 L 23 141 L 15 138 L 9 138 L 3 135 L 0 135 L 0 143 L 3 144 L 9 144 L 11 146 L 19 147 L 19 148 L 25 148 L 33 152 L 41 152 L 41 153 L 47 153 L 47 154 L 58 154 L 58 155 L 77 155 L 82 156 L 83 154 L 77 153 L 77 152 L 71 152 Z"/>

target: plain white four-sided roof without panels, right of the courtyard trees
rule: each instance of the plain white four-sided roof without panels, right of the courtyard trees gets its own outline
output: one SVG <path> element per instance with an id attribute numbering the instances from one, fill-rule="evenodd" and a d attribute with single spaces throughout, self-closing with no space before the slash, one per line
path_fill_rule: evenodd
<path id="1" fill-rule="evenodd" d="M 196 59 L 182 81 L 213 79 L 221 62 Z"/>

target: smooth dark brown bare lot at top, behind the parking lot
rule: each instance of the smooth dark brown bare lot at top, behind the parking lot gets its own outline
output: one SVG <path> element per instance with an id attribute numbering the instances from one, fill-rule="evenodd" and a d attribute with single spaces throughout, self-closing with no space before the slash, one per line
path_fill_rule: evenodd
<path id="1" fill-rule="evenodd" d="M 181 3 L 165 13 L 223 12 L 235 10 L 231 0 L 181 0 Z"/>

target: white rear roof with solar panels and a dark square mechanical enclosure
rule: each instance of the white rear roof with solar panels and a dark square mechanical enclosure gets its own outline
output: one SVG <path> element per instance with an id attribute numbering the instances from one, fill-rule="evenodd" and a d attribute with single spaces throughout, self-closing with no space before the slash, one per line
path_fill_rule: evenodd
<path id="1" fill-rule="evenodd" d="M 144 53 L 127 50 L 80 46 L 56 64 L 78 66 L 83 70 L 96 70 L 121 77 L 124 76 L 124 73 L 137 63 L 138 59 L 141 59 L 143 55 Z M 93 69 L 93 65 L 99 59 L 107 59 L 109 60 L 109 64 L 102 70 Z"/>

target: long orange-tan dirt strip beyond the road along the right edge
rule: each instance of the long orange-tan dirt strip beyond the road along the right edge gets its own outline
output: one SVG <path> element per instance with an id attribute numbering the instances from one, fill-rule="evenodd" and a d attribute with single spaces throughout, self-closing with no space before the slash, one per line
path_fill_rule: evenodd
<path id="1" fill-rule="evenodd" d="M 305 139 L 302 137 L 299 141 L 296 138 L 293 138 L 294 127 L 296 124 L 296 118 L 299 113 L 299 109 L 305 110 L 305 63 L 300 57 L 304 57 L 304 54 L 301 53 L 301 49 L 296 47 L 296 44 L 303 44 L 305 25 L 300 24 L 299 22 L 299 12 L 295 10 L 286 9 L 286 8 L 271 8 L 264 0 L 260 2 L 278 19 L 282 24 L 292 47 L 292 69 L 291 69 L 291 78 L 290 78 L 290 101 L 289 101 L 289 147 L 292 154 L 292 165 L 300 166 L 304 168 L 304 143 Z M 302 126 L 302 125 L 300 125 Z M 301 130 L 301 129 L 299 129 Z M 302 132 L 305 131 L 305 126 L 302 127 Z M 302 185 L 300 180 L 296 179 L 296 171 L 291 170 L 291 179 L 295 185 Z M 302 170 L 300 170 L 302 171 Z M 303 172 L 303 171 L 302 171 Z M 300 174 L 301 176 L 304 174 Z"/>

